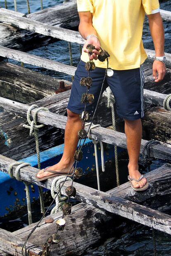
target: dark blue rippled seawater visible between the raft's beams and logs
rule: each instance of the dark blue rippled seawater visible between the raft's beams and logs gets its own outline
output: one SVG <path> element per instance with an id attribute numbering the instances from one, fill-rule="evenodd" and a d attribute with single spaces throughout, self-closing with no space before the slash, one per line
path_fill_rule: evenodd
<path id="1" fill-rule="evenodd" d="M 62 3 L 63 0 L 44 0 L 43 7 L 52 7 L 59 3 Z M 40 1 L 29 0 L 30 10 L 31 12 L 36 12 L 40 10 Z M 0 1 L 0 6 L 5 7 L 4 1 Z M 7 7 L 9 10 L 14 10 L 13 1 L 7 1 Z M 171 1 L 161 3 L 161 9 L 171 11 Z M 17 1 L 17 11 L 27 13 L 27 6 L 25 0 Z M 171 22 L 164 21 L 164 31 L 165 31 L 165 52 L 171 53 Z M 152 38 L 150 36 L 150 31 L 148 27 L 147 18 L 145 19 L 144 29 L 143 29 L 143 43 L 145 48 L 154 49 L 154 45 L 152 43 Z M 45 57 L 51 60 L 59 61 L 65 64 L 70 64 L 69 62 L 69 50 L 68 43 L 65 41 L 59 41 L 56 43 L 52 43 L 47 46 L 40 47 L 35 50 L 29 51 L 31 54 L 35 54 L 41 57 Z M 77 66 L 80 59 L 79 46 L 75 43 L 72 43 L 72 53 L 74 65 Z M 19 64 L 19 62 L 14 60 L 9 60 L 12 63 Z M 37 72 L 41 72 L 43 74 L 51 75 L 53 77 L 58 77 L 61 79 L 71 80 L 71 77 L 66 74 L 54 72 L 52 70 L 46 70 L 41 67 L 35 67 L 32 65 L 25 64 L 24 67 L 33 69 Z M 1 111 L 1 110 L 0 110 Z M 157 167 L 157 163 L 154 168 Z M 37 209 L 33 210 L 33 214 L 35 215 L 34 221 L 37 221 Z M 25 226 L 27 222 L 26 217 L 27 214 L 24 213 L 20 218 L 15 220 L 9 220 L 6 223 L 6 227 L 9 230 L 12 225 L 12 230 L 21 228 Z M 2 227 L 2 223 L 0 223 Z M 157 242 L 157 253 L 158 256 L 171 256 L 171 236 L 163 233 L 156 232 L 156 242 Z M 152 230 L 149 227 L 142 227 L 140 230 L 133 231 L 128 233 L 118 239 L 117 237 L 111 237 L 104 244 L 100 245 L 96 249 L 89 249 L 84 256 L 151 256 L 153 255 L 153 247 L 152 247 Z"/>

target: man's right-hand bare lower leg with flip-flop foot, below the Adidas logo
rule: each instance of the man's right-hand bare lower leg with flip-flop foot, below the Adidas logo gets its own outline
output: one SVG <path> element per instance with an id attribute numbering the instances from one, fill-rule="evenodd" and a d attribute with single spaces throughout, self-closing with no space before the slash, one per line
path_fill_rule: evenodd
<path id="1" fill-rule="evenodd" d="M 141 120 L 125 120 L 125 133 L 129 155 L 128 170 L 131 178 L 139 179 L 141 177 L 138 171 L 138 158 L 140 154 L 140 145 L 142 138 L 142 123 Z M 134 180 L 131 181 L 136 188 L 143 187 L 147 179 L 142 178 L 138 184 Z"/>

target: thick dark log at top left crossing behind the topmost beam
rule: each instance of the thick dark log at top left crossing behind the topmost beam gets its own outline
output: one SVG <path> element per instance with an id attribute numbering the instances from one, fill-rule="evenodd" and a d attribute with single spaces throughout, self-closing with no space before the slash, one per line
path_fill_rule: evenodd
<path id="1" fill-rule="evenodd" d="M 76 29 L 79 24 L 76 1 L 66 2 L 65 4 L 27 14 L 26 17 L 66 29 Z M 57 41 L 57 39 L 50 36 L 43 36 L 35 32 L 17 29 L 7 24 L 0 24 L 0 45 L 9 48 L 28 51 L 54 41 Z"/>

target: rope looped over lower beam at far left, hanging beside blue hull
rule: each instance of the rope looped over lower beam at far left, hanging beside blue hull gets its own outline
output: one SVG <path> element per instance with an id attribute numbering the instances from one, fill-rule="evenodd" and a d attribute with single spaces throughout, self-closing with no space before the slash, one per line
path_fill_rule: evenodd
<path id="1" fill-rule="evenodd" d="M 18 165 L 18 166 L 17 166 Z M 23 181 L 21 178 L 20 178 L 20 175 L 19 175 L 19 172 L 20 172 L 20 169 L 23 168 L 23 167 L 26 167 L 30 165 L 29 163 L 24 163 L 24 162 L 15 162 L 15 163 L 11 163 L 8 167 L 8 173 L 9 173 L 9 176 L 12 178 L 12 179 L 17 179 L 18 181 L 21 181 L 24 183 L 24 185 L 26 186 L 26 200 L 27 200 L 27 211 L 28 211 L 28 218 L 29 218 L 29 225 L 32 224 L 32 216 L 31 216 L 31 202 L 30 202 L 30 191 L 29 191 L 29 185 L 30 183 L 29 182 L 26 182 L 26 181 Z M 17 166 L 16 170 L 15 170 L 15 176 L 13 175 L 12 173 L 12 169 L 14 166 Z"/>

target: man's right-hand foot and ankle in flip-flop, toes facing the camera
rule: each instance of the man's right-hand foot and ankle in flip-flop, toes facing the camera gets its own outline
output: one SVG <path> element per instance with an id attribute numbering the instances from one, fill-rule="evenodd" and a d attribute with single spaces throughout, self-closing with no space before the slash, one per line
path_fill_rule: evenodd
<path id="1" fill-rule="evenodd" d="M 130 178 L 139 179 L 142 174 L 138 171 L 138 165 L 128 165 L 129 176 Z M 143 177 L 138 183 L 135 180 L 131 180 L 133 187 L 136 189 L 144 187 L 147 183 L 147 179 Z"/>

